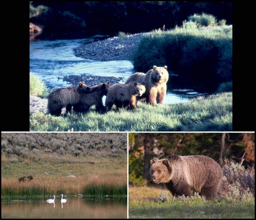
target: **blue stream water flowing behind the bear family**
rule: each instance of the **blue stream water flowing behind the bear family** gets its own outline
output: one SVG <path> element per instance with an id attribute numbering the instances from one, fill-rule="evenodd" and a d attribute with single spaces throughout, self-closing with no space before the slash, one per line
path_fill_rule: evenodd
<path id="1" fill-rule="evenodd" d="M 92 76 L 122 77 L 124 81 L 136 71 L 129 60 L 98 61 L 74 55 L 73 49 L 95 38 L 78 40 L 38 40 L 30 42 L 30 73 L 37 75 L 50 88 L 71 85 L 64 76 L 88 74 Z M 194 88 L 177 85 L 177 76 L 170 75 L 164 103 L 184 103 L 198 95 L 208 95 Z M 172 85 L 175 82 L 175 85 Z M 180 84 L 182 85 L 182 83 Z M 103 100 L 104 101 L 104 100 Z"/>

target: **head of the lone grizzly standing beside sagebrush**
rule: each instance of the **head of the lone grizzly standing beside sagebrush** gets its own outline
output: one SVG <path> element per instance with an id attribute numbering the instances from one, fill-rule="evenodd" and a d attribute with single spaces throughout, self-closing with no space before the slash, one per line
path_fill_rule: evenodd
<path id="1" fill-rule="evenodd" d="M 154 183 L 159 184 L 161 182 L 169 182 L 170 181 L 170 165 L 168 164 L 167 159 L 155 161 L 150 161 L 150 176 Z"/>

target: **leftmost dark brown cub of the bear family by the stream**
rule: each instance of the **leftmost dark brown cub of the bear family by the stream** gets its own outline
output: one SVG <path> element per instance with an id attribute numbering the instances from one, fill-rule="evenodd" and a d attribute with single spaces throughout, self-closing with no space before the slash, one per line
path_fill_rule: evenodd
<path id="1" fill-rule="evenodd" d="M 80 102 L 84 94 L 94 91 L 84 82 L 79 82 L 78 87 L 70 86 L 67 88 L 54 89 L 48 95 L 48 111 L 52 115 L 60 115 L 63 107 L 66 107 L 66 112 L 71 111 L 72 106 Z"/>

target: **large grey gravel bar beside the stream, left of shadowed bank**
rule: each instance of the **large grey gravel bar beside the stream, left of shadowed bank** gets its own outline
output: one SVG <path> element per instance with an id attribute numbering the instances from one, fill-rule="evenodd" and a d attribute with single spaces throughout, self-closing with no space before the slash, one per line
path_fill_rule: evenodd
<path id="1" fill-rule="evenodd" d="M 101 61 L 132 60 L 143 35 L 146 33 L 119 35 L 89 44 L 81 44 L 74 49 L 77 57 Z"/>

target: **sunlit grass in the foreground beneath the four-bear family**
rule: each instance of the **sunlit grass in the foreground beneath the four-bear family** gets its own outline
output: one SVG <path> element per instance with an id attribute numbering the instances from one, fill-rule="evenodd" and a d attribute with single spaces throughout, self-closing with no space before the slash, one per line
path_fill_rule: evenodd
<path id="1" fill-rule="evenodd" d="M 198 97 L 180 104 L 140 103 L 137 109 L 55 117 L 36 112 L 30 131 L 232 131 L 232 93 Z"/>

